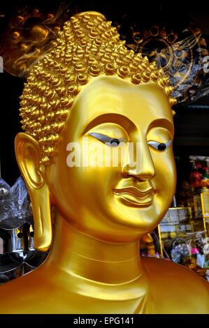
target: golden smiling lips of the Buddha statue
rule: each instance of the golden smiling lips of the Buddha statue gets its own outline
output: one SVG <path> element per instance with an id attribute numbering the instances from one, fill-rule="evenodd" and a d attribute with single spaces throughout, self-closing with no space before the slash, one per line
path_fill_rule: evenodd
<path id="1" fill-rule="evenodd" d="M 154 189 L 149 188 L 140 191 L 135 187 L 113 189 L 113 193 L 120 197 L 120 201 L 130 207 L 147 207 L 152 204 L 153 196 L 156 194 Z"/>

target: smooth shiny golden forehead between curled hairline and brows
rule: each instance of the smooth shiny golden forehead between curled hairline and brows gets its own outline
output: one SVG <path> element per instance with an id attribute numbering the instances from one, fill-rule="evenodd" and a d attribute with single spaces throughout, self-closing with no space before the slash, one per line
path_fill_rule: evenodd
<path id="1" fill-rule="evenodd" d="M 171 106 L 163 88 L 153 82 L 135 85 L 116 76 L 92 78 L 82 87 L 71 109 L 71 119 L 74 117 L 83 127 L 96 117 L 101 117 L 100 123 L 103 120 L 120 123 L 120 117 L 124 117 L 140 128 L 155 119 L 165 118 L 173 124 Z"/>

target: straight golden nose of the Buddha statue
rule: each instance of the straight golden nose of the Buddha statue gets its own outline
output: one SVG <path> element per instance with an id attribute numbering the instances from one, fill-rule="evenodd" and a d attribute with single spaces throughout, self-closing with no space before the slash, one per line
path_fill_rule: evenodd
<path id="1" fill-rule="evenodd" d="M 134 146 L 135 161 L 131 161 L 133 154 L 129 154 L 129 163 L 124 165 L 122 170 L 123 176 L 134 177 L 140 181 L 152 179 L 155 176 L 155 170 L 147 141 L 136 142 Z"/>

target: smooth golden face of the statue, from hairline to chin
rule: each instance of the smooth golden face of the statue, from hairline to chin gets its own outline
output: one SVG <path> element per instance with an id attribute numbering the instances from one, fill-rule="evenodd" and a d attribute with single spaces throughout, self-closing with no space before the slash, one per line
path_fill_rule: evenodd
<path id="1" fill-rule="evenodd" d="M 75 99 L 48 167 L 57 211 L 73 228 L 105 241 L 131 241 L 150 232 L 175 192 L 172 140 L 164 89 L 120 77 L 92 78 Z M 81 161 L 71 142 L 80 148 Z M 97 146 L 101 153 L 93 165 Z M 115 149 L 120 156 L 113 165 L 108 160 Z"/>

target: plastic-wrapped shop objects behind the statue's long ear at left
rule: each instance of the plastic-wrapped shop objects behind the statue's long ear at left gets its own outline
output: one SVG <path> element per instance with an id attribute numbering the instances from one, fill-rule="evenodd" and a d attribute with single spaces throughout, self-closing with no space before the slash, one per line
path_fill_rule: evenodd
<path id="1" fill-rule="evenodd" d="M 27 274 L 48 252 L 34 248 L 34 222 L 22 177 L 10 187 L 0 178 L 0 284 Z"/>

